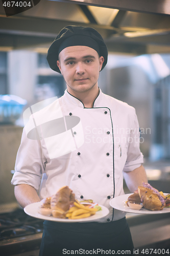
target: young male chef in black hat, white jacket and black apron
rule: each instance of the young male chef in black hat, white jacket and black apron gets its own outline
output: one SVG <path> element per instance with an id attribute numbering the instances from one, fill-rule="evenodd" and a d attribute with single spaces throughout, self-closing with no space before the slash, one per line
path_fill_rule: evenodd
<path id="1" fill-rule="evenodd" d="M 109 214 L 89 223 L 45 221 L 43 256 L 80 249 L 99 249 L 93 254 L 133 250 L 125 212 L 109 202 L 124 195 L 123 176 L 132 193 L 147 176 L 135 109 L 98 87 L 107 57 L 102 36 L 81 26 L 63 28 L 47 53 L 50 67 L 63 75 L 67 89 L 43 108 L 30 107 L 12 178 L 16 199 L 25 207 L 67 185 L 78 200 L 92 199 Z"/>

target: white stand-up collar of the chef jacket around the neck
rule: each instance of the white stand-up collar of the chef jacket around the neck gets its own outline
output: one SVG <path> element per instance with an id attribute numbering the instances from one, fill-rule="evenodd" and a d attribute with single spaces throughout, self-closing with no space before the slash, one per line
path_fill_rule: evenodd
<path id="1" fill-rule="evenodd" d="M 103 93 L 102 90 L 99 88 L 99 95 L 98 97 L 95 98 L 94 102 L 93 102 L 93 108 L 97 108 L 100 106 L 100 103 L 102 101 L 103 98 Z M 72 96 L 70 93 L 68 93 L 67 89 L 64 92 L 63 95 L 64 99 L 66 99 L 67 102 L 77 105 L 79 108 L 85 108 L 84 104 L 81 100 L 79 100 L 78 98 L 76 98 L 75 96 Z"/>

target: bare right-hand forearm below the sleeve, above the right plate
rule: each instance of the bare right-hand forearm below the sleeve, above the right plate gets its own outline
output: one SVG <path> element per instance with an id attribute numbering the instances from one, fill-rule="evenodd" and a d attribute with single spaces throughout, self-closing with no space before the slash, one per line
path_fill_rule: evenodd
<path id="1" fill-rule="evenodd" d="M 134 193 L 138 186 L 142 186 L 142 182 L 148 183 L 147 174 L 143 165 L 132 170 L 132 172 L 124 172 L 124 178 L 131 193 Z"/>

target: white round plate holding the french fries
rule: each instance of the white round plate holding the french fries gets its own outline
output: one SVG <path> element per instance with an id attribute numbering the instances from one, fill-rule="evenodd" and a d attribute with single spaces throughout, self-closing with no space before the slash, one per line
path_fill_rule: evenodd
<path id="1" fill-rule="evenodd" d="M 54 218 L 53 216 L 44 216 L 38 213 L 38 208 L 40 207 L 41 202 L 29 204 L 24 208 L 24 211 L 26 214 L 42 219 L 42 220 L 47 220 L 47 221 L 57 221 L 57 222 L 91 222 L 91 221 L 96 221 L 99 220 L 109 214 L 109 209 L 106 208 L 103 205 L 100 205 L 102 207 L 102 210 L 96 211 L 95 215 L 92 215 L 88 218 L 83 218 L 83 219 L 78 219 L 78 220 L 70 220 L 70 219 L 59 219 L 59 218 Z"/>

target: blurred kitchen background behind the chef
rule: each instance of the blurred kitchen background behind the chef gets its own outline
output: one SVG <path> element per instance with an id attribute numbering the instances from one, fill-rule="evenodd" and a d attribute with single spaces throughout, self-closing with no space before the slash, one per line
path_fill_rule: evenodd
<path id="1" fill-rule="evenodd" d="M 41 100 L 62 96 L 66 89 L 62 75 L 48 67 L 46 53 L 57 33 L 69 24 L 91 26 L 104 37 L 109 57 L 107 66 L 100 74 L 99 87 L 104 93 L 134 106 L 149 182 L 164 193 L 170 193 L 170 11 L 168 13 L 169 9 L 163 6 L 165 2 L 159 0 L 148 9 L 144 7 L 145 2 L 138 7 L 134 6 L 134 1 L 129 6 L 124 6 L 124 2 L 119 8 L 113 8 L 109 0 L 105 1 L 109 8 L 105 8 L 104 3 L 101 7 L 101 1 L 99 6 L 94 6 L 93 2 L 91 0 L 89 5 L 82 5 L 72 0 L 41 0 L 34 8 L 11 17 L 6 17 L 0 2 L 2 214 L 19 207 L 10 181 L 23 129 L 23 111 Z M 116 7 L 117 1 L 113 2 Z M 161 2 L 159 8 L 158 2 Z M 12 101 L 4 95 L 19 98 L 15 97 Z M 5 101 L 8 101 L 8 106 Z M 129 193 L 126 184 L 125 193 Z M 146 222 L 150 225 L 150 221 L 151 218 L 143 222 L 142 218 L 141 224 Z M 158 223 L 157 219 L 152 221 Z M 133 231 L 135 224 L 132 218 L 129 218 L 129 223 Z M 165 228 L 164 224 L 161 225 Z M 170 223 L 168 225 L 170 231 Z M 164 241 L 162 246 L 166 246 L 170 241 L 166 231 L 161 239 L 150 239 L 150 242 L 140 237 L 135 247 L 156 246 L 156 243 Z M 12 255 L 10 250 L 8 253 Z"/>

